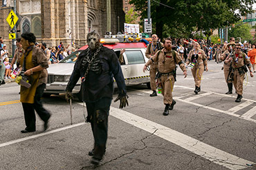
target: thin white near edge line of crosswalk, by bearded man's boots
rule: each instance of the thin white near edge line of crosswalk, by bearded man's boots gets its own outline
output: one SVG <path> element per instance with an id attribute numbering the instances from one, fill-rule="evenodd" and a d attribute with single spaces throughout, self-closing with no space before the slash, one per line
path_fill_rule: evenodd
<path id="1" fill-rule="evenodd" d="M 151 94 L 151 92 L 149 92 L 149 90 L 146 90 L 146 89 L 140 89 L 138 90 L 139 92 L 144 92 L 144 93 L 147 93 L 147 94 Z M 253 123 L 256 123 L 256 120 L 252 119 L 252 118 L 244 118 L 244 117 L 241 117 L 241 115 L 239 114 L 234 114 L 233 112 L 230 112 L 230 111 L 225 111 L 225 110 L 221 110 L 221 109 L 217 109 L 217 108 L 214 108 L 214 107 L 209 107 L 209 106 L 205 106 L 205 105 L 201 105 L 199 103 L 194 103 L 194 102 L 191 102 L 191 101 L 187 101 L 187 100 L 183 100 L 183 99 L 180 99 L 179 97 L 174 97 L 175 100 L 179 100 L 183 103 L 188 103 L 190 105 L 195 105 L 197 107 L 202 107 L 202 108 L 205 108 L 205 109 L 210 109 L 212 111 L 217 111 L 217 114 L 219 113 L 222 113 L 222 114 L 228 114 L 230 116 L 235 116 L 237 118 L 241 118 L 241 119 L 244 119 L 244 120 L 248 120 L 250 122 L 253 122 Z"/>

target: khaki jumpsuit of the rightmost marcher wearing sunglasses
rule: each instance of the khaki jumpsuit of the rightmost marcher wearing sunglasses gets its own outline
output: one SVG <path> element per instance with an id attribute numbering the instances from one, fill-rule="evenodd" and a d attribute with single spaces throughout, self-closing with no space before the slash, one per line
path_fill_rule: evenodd
<path id="1" fill-rule="evenodd" d="M 234 54 L 235 57 L 232 60 L 231 67 L 232 67 L 232 72 L 233 74 L 233 81 L 232 83 L 234 84 L 235 90 L 237 94 L 243 95 L 243 83 L 244 83 L 244 72 L 242 71 L 242 66 L 247 65 L 248 68 L 251 67 L 250 65 L 250 59 L 244 52 L 240 52 L 238 56 Z M 236 62 L 236 60 L 238 61 Z M 231 82 L 229 82 L 231 83 Z"/>

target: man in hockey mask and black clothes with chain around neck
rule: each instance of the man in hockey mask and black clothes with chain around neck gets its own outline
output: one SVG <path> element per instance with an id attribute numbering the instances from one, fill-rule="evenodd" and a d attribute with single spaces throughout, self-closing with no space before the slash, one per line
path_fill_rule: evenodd
<path id="1" fill-rule="evenodd" d="M 72 89 L 82 78 L 82 98 L 86 103 L 86 122 L 91 123 L 94 148 L 91 163 L 98 165 L 106 150 L 109 107 L 113 97 L 113 77 L 118 85 L 120 109 L 128 105 L 125 79 L 122 75 L 118 56 L 100 43 L 96 32 L 87 34 L 89 47 L 81 52 L 75 63 L 73 73 L 66 87 L 66 100 L 73 98 Z"/>

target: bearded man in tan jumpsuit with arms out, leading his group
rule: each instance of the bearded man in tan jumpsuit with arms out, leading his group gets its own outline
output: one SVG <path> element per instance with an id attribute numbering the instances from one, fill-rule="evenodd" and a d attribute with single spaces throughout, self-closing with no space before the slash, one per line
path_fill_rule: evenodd
<path id="1" fill-rule="evenodd" d="M 165 39 L 163 42 L 164 48 L 159 50 L 156 55 L 147 61 L 143 68 L 143 72 L 147 70 L 149 65 L 158 63 L 158 72 L 161 74 L 161 84 L 163 86 L 163 103 L 165 104 L 164 116 L 169 114 L 169 109 L 172 110 L 176 101 L 172 99 L 172 89 L 174 88 L 174 81 L 176 76 L 176 64 L 179 64 L 185 77 L 187 76 L 187 70 L 185 64 L 181 60 L 179 54 L 172 50 L 172 39 Z M 175 59 L 174 59 L 175 57 Z"/>

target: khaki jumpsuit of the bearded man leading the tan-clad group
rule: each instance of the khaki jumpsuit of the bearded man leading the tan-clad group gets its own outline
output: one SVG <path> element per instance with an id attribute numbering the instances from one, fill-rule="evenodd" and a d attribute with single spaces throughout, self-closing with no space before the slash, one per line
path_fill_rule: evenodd
<path id="1" fill-rule="evenodd" d="M 156 55 L 147 61 L 146 65 L 158 63 L 158 71 L 161 72 L 161 83 L 163 86 L 163 103 L 165 105 L 172 104 L 172 89 L 174 88 L 174 76 L 172 74 L 175 71 L 176 64 L 179 64 L 182 71 L 185 71 L 185 64 L 181 60 L 181 57 L 175 52 L 176 63 L 174 62 L 174 56 L 172 52 L 164 52 L 165 49 L 159 50 Z M 152 61 L 153 60 L 153 61 Z"/>

